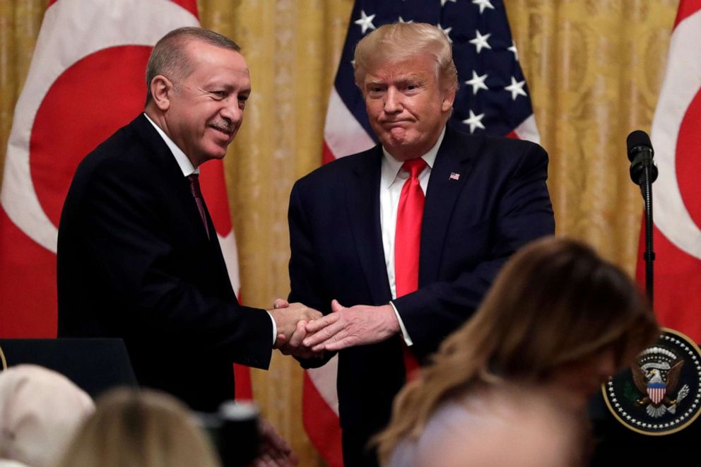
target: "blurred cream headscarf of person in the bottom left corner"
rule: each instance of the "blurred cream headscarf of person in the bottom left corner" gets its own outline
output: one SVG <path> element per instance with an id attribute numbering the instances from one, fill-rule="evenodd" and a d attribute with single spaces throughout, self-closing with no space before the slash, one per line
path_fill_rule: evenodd
<path id="1" fill-rule="evenodd" d="M 37 365 L 0 372 L 0 466 L 53 466 L 93 410 L 90 396 L 63 374 Z"/>

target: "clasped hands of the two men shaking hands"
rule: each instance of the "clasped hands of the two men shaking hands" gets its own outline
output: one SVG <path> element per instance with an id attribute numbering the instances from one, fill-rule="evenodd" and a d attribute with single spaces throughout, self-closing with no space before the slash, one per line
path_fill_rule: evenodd
<path id="1" fill-rule="evenodd" d="M 278 329 L 273 348 L 300 358 L 322 357 L 355 345 L 384 341 L 399 333 L 399 320 L 391 305 L 343 307 L 331 301 L 331 314 L 323 316 L 302 303 L 278 298 L 268 310 Z"/>

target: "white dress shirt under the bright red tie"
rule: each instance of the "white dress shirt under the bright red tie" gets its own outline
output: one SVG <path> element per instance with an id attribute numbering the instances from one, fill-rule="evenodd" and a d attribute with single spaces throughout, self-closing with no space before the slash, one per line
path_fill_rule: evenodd
<path id="1" fill-rule="evenodd" d="M 428 188 L 428 179 L 431 176 L 433 163 L 436 160 L 438 148 L 440 148 L 440 143 L 442 143 L 444 135 L 445 128 L 443 128 L 440 136 L 438 136 L 438 141 L 436 141 L 435 145 L 428 150 L 428 153 L 421 156 L 424 162 L 426 162 L 426 167 L 424 167 L 423 171 L 418 175 L 418 181 L 424 194 Z M 396 211 L 399 208 L 401 189 L 404 186 L 404 182 L 406 182 L 406 179 L 409 177 L 409 172 L 401 170 L 403 162 L 399 162 L 399 160 L 393 158 L 385 148 L 382 148 L 382 153 L 384 157 L 382 158 L 382 169 L 379 181 L 379 225 L 382 229 L 382 247 L 384 248 L 385 266 L 387 266 L 387 278 L 389 278 L 389 288 L 392 293 L 392 300 L 394 300 L 396 298 L 396 278 L 394 276 Z M 404 323 L 401 321 L 399 312 L 397 312 L 396 307 L 394 307 L 394 303 L 389 302 L 389 305 L 394 309 L 396 319 L 399 321 L 399 328 L 401 329 L 401 336 L 404 342 L 406 345 L 413 345 L 406 331 L 406 327 L 404 327 Z"/>

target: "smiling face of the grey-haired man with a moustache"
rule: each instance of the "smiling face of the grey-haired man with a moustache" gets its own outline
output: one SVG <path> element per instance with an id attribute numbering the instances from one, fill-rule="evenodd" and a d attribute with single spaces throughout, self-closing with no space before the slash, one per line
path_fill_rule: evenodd
<path id="1" fill-rule="evenodd" d="M 184 49 L 192 73 L 176 81 L 156 76 L 152 92 L 163 111 L 161 127 L 197 167 L 225 156 L 243 121 L 251 81 L 239 52 L 196 39 Z M 163 83 L 160 92 L 154 83 Z"/>

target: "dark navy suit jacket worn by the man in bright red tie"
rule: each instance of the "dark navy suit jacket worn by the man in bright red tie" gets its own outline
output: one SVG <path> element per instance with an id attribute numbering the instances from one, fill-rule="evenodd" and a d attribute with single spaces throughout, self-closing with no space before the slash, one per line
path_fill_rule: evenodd
<path id="1" fill-rule="evenodd" d="M 377 146 L 319 167 L 293 187 L 290 301 L 328 313 L 334 298 L 345 307 L 391 300 L 379 221 L 381 160 Z M 420 360 L 471 316 L 512 253 L 553 234 L 547 168 L 546 152 L 534 143 L 447 128 L 426 192 L 419 289 L 394 300 Z M 400 341 L 339 353 L 344 429 L 369 437 L 387 424 L 405 382 Z"/>

